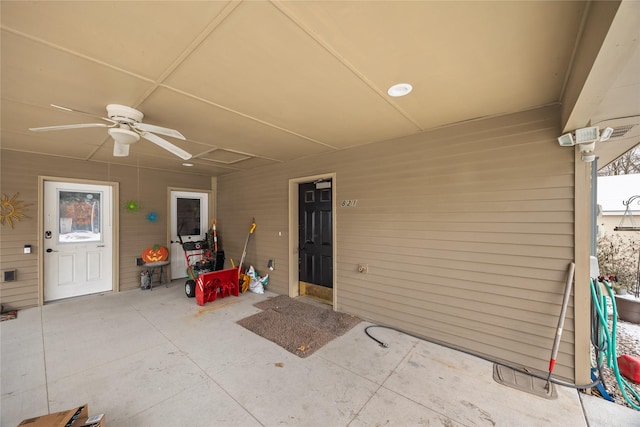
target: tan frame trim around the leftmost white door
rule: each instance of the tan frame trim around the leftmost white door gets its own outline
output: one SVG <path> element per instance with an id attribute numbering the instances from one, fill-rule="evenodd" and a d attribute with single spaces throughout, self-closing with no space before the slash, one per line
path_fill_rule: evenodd
<path id="1" fill-rule="evenodd" d="M 103 185 L 111 187 L 111 292 L 120 292 L 120 183 L 92 179 L 65 178 L 58 176 L 38 176 L 38 306 L 44 305 L 44 183 L 47 181 L 68 182 L 70 184 Z"/>

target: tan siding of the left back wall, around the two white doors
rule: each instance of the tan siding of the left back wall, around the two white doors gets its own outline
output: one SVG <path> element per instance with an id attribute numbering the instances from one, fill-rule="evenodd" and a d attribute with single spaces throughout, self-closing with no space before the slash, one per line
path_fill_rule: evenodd
<path id="1" fill-rule="evenodd" d="M 75 161 L 65 158 L 32 155 L 2 150 L 2 193 L 9 197 L 16 192 L 19 199 L 30 203 L 25 209 L 28 219 L 16 223 L 14 229 L 4 225 L 0 229 L 0 267 L 16 268 L 15 282 L 0 283 L 0 301 L 7 308 L 25 308 L 38 304 L 38 177 L 58 177 L 60 180 L 83 179 L 119 183 L 119 272 L 120 290 L 140 286 L 140 267 L 136 257 L 154 244 L 167 245 L 167 188 L 181 187 L 208 191 L 211 178 L 98 162 Z M 137 213 L 124 209 L 127 200 L 140 204 Z M 149 212 L 158 215 L 156 222 L 147 219 Z M 32 253 L 22 248 L 32 245 Z M 175 250 L 175 248 L 170 248 Z"/>

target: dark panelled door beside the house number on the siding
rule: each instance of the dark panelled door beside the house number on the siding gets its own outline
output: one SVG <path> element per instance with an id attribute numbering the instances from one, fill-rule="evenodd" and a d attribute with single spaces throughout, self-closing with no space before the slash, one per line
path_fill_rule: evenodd
<path id="1" fill-rule="evenodd" d="M 333 288 L 331 180 L 300 184 L 300 281 Z"/>

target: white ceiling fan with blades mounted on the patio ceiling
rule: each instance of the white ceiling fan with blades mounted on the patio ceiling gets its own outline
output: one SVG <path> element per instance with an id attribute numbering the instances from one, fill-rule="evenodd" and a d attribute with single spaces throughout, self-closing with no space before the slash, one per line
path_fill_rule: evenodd
<path id="1" fill-rule="evenodd" d="M 86 116 L 96 117 L 104 120 L 107 123 L 82 123 L 75 125 L 60 125 L 60 126 L 45 126 L 37 128 L 29 128 L 34 132 L 46 132 L 50 130 L 65 130 L 65 129 L 79 129 L 79 128 L 93 128 L 93 127 L 105 127 L 108 128 L 107 132 L 115 141 L 113 145 L 113 155 L 116 157 L 126 157 L 129 155 L 129 146 L 140 140 L 140 137 L 151 141 L 154 144 L 164 148 L 165 150 L 175 154 L 181 159 L 188 160 L 191 158 L 191 154 L 184 151 L 182 148 L 170 143 L 164 138 L 159 137 L 156 133 L 161 135 L 170 136 L 177 139 L 186 139 L 184 135 L 175 129 L 164 128 L 161 126 L 150 125 L 148 123 L 142 123 L 144 114 L 135 108 L 127 107 L 119 104 L 107 105 L 107 117 L 101 117 L 96 114 L 87 113 L 80 110 L 73 110 L 71 108 L 62 107 L 60 105 L 51 104 L 52 107 L 58 108 L 64 111 L 70 111 L 72 113 L 80 113 Z"/>

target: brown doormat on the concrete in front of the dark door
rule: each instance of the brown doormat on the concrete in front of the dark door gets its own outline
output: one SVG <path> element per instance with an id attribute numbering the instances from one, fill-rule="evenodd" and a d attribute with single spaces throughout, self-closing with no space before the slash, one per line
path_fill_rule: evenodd
<path id="1" fill-rule="evenodd" d="M 308 357 L 360 323 L 360 319 L 285 295 L 254 304 L 264 311 L 237 323 L 298 357 Z"/>

